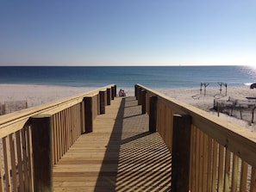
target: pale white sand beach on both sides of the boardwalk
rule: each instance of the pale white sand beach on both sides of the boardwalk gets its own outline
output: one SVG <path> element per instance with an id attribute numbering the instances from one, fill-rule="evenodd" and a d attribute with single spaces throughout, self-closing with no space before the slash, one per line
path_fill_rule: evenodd
<path id="1" fill-rule="evenodd" d="M 13 101 L 27 101 L 28 108 L 36 105 L 40 105 L 46 102 L 52 102 L 60 98 L 67 96 L 73 96 L 79 93 L 86 93 L 90 90 L 95 90 L 93 87 L 67 87 L 67 86 L 54 86 L 54 85 L 38 85 L 38 84 L 0 84 L 0 103 L 13 102 Z M 134 96 L 134 88 L 120 88 L 117 87 L 117 91 L 123 89 L 127 96 Z M 204 87 L 200 91 L 198 88 L 161 88 L 153 89 L 157 90 L 166 96 L 171 96 L 179 101 L 189 103 L 197 108 L 208 111 L 216 115 L 216 112 L 212 111 L 214 105 L 214 99 L 228 100 L 228 97 L 234 99 L 248 101 L 256 97 L 256 90 L 250 90 L 249 86 L 230 86 L 227 89 L 222 87 L 207 87 L 204 95 Z M 256 101 L 256 100 L 253 100 Z M 221 118 L 225 118 L 228 121 L 232 121 L 240 124 L 243 127 L 255 129 L 252 123 L 247 121 L 240 121 L 239 118 L 234 118 L 228 115 L 220 115 Z M 255 129 L 256 130 L 256 129 Z"/>

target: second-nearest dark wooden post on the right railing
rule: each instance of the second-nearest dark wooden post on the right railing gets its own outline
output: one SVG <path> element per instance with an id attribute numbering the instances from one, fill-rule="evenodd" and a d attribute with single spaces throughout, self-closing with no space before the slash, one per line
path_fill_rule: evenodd
<path id="1" fill-rule="evenodd" d="M 149 112 L 149 132 L 156 132 L 156 123 L 157 123 L 157 104 L 158 97 L 152 96 L 150 97 L 150 112 Z"/>

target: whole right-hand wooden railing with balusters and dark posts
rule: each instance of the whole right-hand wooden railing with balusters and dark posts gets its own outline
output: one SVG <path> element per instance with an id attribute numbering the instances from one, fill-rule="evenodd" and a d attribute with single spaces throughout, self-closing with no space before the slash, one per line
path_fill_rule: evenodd
<path id="1" fill-rule="evenodd" d="M 135 96 L 172 152 L 172 192 L 256 191 L 256 133 L 140 84 Z"/>

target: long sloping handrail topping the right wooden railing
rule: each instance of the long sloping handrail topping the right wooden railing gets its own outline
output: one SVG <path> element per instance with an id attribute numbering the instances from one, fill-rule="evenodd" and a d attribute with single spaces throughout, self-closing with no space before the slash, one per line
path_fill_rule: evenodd
<path id="1" fill-rule="evenodd" d="M 165 96 L 141 84 L 136 85 L 141 89 L 147 90 L 147 93 L 158 96 L 158 99 L 164 102 L 165 106 L 172 108 L 175 113 L 190 115 L 192 125 L 201 129 L 203 133 L 209 134 L 222 146 L 227 147 L 228 150 L 234 152 L 238 157 L 246 160 L 248 164 L 256 167 L 256 133 L 252 133 L 246 127 L 241 127 L 240 125 L 209 114 L 203 109 L 193 107 L 185 102 L 180 102 L 170 96 Z"/>

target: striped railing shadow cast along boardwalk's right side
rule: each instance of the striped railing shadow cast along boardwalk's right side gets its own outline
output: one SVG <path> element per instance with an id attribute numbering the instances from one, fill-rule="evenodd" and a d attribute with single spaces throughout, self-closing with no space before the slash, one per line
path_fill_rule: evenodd
<path id="1" fill-rule="evenodd" d="M 148 132 L 148 121 L 135 97 L 122 99 L 96 192 L 170 191 L 171 153 L 159 133 Z"/>

